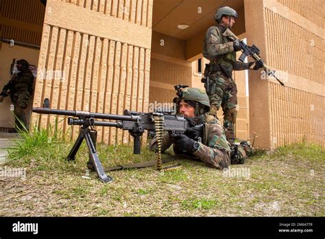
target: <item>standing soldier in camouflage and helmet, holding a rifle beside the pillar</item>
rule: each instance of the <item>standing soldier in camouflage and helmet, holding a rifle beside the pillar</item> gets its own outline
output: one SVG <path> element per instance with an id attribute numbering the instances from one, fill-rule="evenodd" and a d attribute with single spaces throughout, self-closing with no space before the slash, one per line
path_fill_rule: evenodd
<path id="1" fill-rule="evenodd" d="M 219 8 L 215 12 L 217 26 L 208 28 L 203 49 L 203 56 L 210 60 L 204 71 L 204 76 L 208 80 L 208 84 L 204 84 L 204 87 L 211 104 L 210 114 L 217 117 L 217 111 L 220 106 L 222 107 L 226 137 L 230 144 L 234 144 L 234 123 L 239 109 L 237 86 L 232 79 L 232 71 L 258 70 L 262 67 L 262 62 L 259 61 L 249 63 L 237 61 L 236 52 L 241 50 L 239 41 L 230 41 L 223 35 L 227 28 L 230 29 L 234 25 L 234 19 L 237 18 L 238 14 L 232 8 Z"/>

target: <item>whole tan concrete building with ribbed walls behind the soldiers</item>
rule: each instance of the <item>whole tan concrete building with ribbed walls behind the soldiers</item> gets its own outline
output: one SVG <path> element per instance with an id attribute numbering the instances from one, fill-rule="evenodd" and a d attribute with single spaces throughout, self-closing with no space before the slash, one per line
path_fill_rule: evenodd
<path id="1" fill-rule="evenodd" d="M 0 87 L 10 79 L 12 59 L 25 58 L 37 66 L 29 110 L 49 98 L 53 109 L 147 111 L 149 103 L 171 102 L 176 84 L 203 87 L 202 42 L 220 5 L 237 10 L 232 32 L 257 45 L 285 81 L 281 87 L 259 71 L 234 73 L 237 137 L 256 133 L 261 148 L 302 140 L 324 146 L 322 0 L 47 0 L 46 7 L 38 0 L 3 0 Z M 0 104 L 3 129 L 14 122 L 10 104 Z M 30 122 L 46 127 L 55 119 L 32 114 Z M 77 127 L 60 125 L 77 134 Z M 130 141 L 121 130 L 97 130 L 100 141 Z"/>

